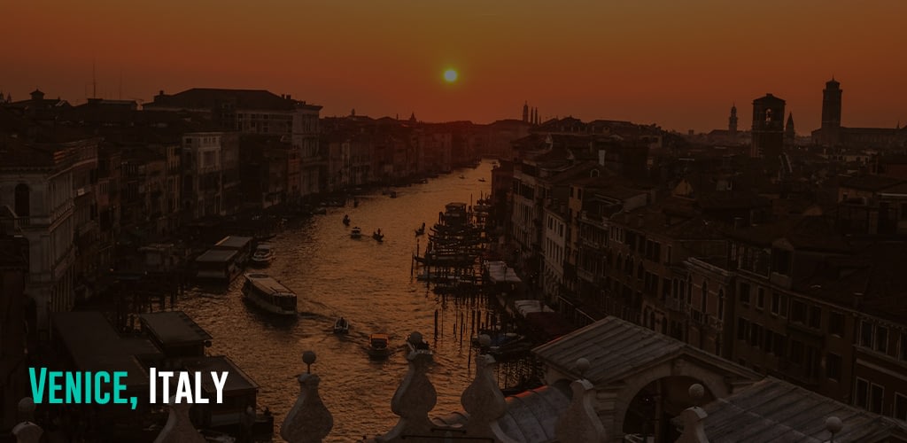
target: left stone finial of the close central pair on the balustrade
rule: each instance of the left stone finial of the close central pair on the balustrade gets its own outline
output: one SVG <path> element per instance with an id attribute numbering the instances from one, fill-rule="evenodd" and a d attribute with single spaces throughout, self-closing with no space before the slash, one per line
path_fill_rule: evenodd
<path id="1" fill-rule="evenodd" d="M 428 435 L 434 427 L 428 418 L 438 399 L 437 391 L 428 379 L 428 367 L 433 357 L 430 352 L 419 352 L 415 348 L 422 343 L 422 334 L 413 332 L 409 340 L 414 345 L 414 350 L 406 356 L 409 370 L 391 399 L 391 410 L 400 419 L 390 432 L 377 438 L 378 441 L 395 440 L 407 434 Z"/>

